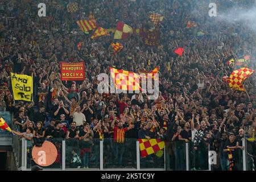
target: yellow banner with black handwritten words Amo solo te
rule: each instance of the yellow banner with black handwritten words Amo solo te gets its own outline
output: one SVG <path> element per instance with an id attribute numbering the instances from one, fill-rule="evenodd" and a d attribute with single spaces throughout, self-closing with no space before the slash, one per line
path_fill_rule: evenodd
<path id="1" fill-rule="evenodd" d="M 33 77 L 11 73 L 14 100 L 33 101 Z"/>

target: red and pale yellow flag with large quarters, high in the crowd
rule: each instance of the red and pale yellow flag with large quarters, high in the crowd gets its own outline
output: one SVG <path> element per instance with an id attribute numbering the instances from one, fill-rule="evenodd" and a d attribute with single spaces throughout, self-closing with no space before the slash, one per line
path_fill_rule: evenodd
<path id="1" fill-rule="evenodd" d="M 114 39 L 126 39 L 130 34 L 133 34 L 133 28 L 121 21 L 118 21 L 117 27 L 115 28 Z"/>

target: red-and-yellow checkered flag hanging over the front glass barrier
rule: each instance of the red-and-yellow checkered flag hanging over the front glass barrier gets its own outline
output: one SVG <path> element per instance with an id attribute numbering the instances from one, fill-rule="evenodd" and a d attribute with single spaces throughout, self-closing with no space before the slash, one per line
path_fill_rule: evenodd
<path id="1" fill-rule="evenodd" d="M 150 154 L 158 154 L 164 148 L 164 141 L 160 139 L 138 139 L 141 156 L 146 157 Z"/>

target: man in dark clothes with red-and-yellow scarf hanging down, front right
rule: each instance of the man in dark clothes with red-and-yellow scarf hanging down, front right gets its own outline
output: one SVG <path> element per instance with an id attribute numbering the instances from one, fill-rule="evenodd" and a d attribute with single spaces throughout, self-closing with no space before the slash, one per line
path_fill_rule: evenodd
<path id="1" fill-rule="evenodd" d="M 238 169 L 238 142 L 234 133 L 228 134 L 228 142 L 226 142 L 226 147 L 224 152 L 229 154 L 229 171 L 237 171 Z"/>

